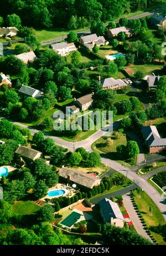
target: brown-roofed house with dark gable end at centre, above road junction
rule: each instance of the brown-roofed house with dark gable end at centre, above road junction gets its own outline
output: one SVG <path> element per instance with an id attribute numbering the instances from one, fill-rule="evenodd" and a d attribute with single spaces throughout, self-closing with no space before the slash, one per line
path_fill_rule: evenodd
<path id="1" fill-rule="evenodd" d="M 94 93 L 87 94 L 85 96 L 82 96 L 79 99 L 74 99 L 74 104 L 79 107 L 80 110 L 84 111 L 88 109 L 92 103 L 93 103 L 93 97 Z"/>

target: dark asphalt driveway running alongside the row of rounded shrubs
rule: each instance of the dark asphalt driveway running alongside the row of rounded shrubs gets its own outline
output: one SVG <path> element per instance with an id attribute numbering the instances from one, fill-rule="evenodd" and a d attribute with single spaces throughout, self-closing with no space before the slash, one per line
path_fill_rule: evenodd
<path id="1" fill-rule="evenodd" d="M 137 187 L 137 185 L 133 184 L 132 186 L 123 188 L 122 190 L 115 191 L 115 192 L 112 192 L 112 193 L 109 193 L 109 194 L 105 194 L 105 195 L 97 197 L 95 199 L 91 199 L 90 202 L 96 204 L 96 203 L 100 202 L 103 198 L 110 199 L 111 196 L 112 197 L 117 197 L 117 196 L 120 196 L 120 194 L 121 194 L 121 196 L 123 196 L 123 194 L 129 193 L 129 191 L 134 190 L 136 187 Z"/>

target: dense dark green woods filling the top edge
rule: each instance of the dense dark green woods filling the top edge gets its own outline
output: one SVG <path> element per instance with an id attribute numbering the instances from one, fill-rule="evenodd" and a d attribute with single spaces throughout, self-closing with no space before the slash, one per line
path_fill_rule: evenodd
<path id="1" fill-rule="evenodd" d="M 2 0 L 6 8 L 0 12 L 0 26 L 4 24 L 21 25 L 35 28 L 68 27 L 76 29 L 86 27 L 94 22 L 111 21 L 125 13 L 151 7 L 160 0 L 40 0 L 35 3 L 33 0 L 11 1 Z M 84 13 L 84 16 L 82 16 Z"/>

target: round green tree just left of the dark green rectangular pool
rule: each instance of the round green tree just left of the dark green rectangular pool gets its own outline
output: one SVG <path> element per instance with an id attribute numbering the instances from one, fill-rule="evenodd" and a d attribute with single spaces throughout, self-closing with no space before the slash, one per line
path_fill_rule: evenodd
<path id="1" fill-rule="evenodd" d="M 50 204 L 45 204 L 38 212 L 38 221 L 52 222 L 54 219 L 54 208 Z"/>

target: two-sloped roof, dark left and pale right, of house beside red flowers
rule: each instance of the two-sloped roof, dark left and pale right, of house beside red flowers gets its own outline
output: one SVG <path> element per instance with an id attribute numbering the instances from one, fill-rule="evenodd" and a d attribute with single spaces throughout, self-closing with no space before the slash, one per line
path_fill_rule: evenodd
<path id="1" fill-rule="evenodd" d="M 103 216 L 105 217 L 106 222 L 110 223 L 111 218 L 113 218 L 113 219 L 117 218 L 117 219 L 124 220 L 123 215 L 122 215 L 117 203 L 112 202 L 110 199 L 103 198 L 99 202 L 99 206 L 100 206 Z"/>

